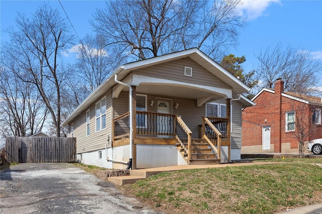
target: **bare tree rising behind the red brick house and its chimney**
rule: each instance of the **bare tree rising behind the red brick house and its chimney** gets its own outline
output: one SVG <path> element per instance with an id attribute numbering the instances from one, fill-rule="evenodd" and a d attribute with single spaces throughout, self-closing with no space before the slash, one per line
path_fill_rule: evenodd
<path id="1" fill-rule="evenodd" d="M 322 62 L 312 59 L 308 51 L 300 51 L 289 45 L 283 49 L 282 44 L 278 43 L 274 48 L 261 51 L 257 59 L 257 79 L 264 87 L 272 88 L 278 78 L 285 81 L 286 91 L 296 93 L 314 93 L 319 86 L 317 80 L 321 75 Z"/>

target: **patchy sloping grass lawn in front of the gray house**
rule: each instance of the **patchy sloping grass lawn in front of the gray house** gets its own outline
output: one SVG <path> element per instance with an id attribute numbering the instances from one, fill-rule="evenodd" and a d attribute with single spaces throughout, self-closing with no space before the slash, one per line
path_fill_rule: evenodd
<path id="1" fill-rule="evenodd" d="M 120 189 L 166 213 L 275 213 L 322 202 L 322 168 L 312 164 L 321 159 L 303 160 L 164 172 Z"/>

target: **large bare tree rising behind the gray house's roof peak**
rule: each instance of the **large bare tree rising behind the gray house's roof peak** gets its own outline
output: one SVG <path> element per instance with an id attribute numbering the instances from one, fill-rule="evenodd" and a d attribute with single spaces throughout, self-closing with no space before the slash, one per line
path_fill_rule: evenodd
<path id="1" fill-rule="evenodd" d="M 235 45 L 238 29 L 246 21 L 236 12 L 239 0 L 107 1 L 92 25 L 108 46 L 135 60 L 198 47 L 220 59 L 219 53 Z"/>

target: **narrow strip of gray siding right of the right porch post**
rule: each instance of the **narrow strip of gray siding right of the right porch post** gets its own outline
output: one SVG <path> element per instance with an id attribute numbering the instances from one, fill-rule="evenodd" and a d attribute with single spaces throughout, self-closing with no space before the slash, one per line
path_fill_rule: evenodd
<path id="1" fill-rule="evenodd" d="M 241 104 L 232 101 L 231 149 L 241 149 Z"/>

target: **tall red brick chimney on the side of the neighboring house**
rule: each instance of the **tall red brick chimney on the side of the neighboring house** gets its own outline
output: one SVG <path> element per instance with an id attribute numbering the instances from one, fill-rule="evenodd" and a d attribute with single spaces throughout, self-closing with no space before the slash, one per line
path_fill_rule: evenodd
<path id="1" fill-rule="evenodd" d="M 284 91 L 284 81 L 278 78 L 275 83 L 275 114 L 274 114 L 274 129 L 273 129 L 273 139 L 274 142 L 274 152 L 282 152 L 282 92 Z"/>

